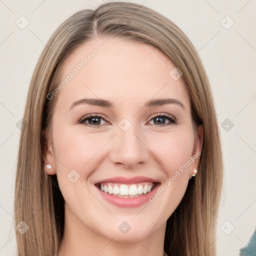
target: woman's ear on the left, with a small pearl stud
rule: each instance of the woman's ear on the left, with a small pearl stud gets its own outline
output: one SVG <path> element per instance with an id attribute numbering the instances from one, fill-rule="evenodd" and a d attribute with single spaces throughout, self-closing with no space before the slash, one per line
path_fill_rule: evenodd
<path id="1" fill-rule="evenodd" d="M 56 174 L 56 164 L 53 152 L 52 139 L 48 139 L 48 133 L 46 130 L 42 131 L 43 136 L 43 168 L 46 174 L 53 175 Z M 50 164 L 51 168 L 46 168 L 46 165 Z"/>

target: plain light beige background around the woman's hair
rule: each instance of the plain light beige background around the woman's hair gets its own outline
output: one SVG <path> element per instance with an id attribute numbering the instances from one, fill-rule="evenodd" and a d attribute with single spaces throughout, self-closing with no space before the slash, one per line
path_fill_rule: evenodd
<path id="1" fill-rule="evenodd" d="M 216 104 L 225 164 L 222 202 L 216 216 L 218 255 L 238 255 L 256 226 L 256 1 L 132 2 L 174 21 L 203 61 Z M 16 123 L 22 118 L 36 61 L 62 21 L 100 3 L 103 0 L 0 0 L 0 255 L 16 251 L 13 199 L 20 135 Z M 24 29 L 15 23 L 21 23 L 21 15 L 29 21 Z M 233 127 L 223 123 L 226 118 Z"/>

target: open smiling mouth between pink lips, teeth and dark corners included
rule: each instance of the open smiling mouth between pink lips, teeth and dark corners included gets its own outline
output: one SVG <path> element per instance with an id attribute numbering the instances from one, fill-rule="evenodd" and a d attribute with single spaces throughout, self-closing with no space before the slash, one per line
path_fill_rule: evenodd
<path id="1" fill-rule="evenodd" d="M 97 183 L 95 186 L 102 192 L 122 198 L 133 198 L 149 193 L 158 182 L 139 182 L 134 184 L 122 184 L 113 182 Z"/>

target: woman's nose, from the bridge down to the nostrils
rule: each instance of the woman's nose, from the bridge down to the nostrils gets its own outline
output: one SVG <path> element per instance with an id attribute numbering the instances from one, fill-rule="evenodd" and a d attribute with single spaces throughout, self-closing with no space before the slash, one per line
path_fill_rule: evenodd
<path id="1" fill-rule="evenodd" d="M 126 118 L 118 123 L 111 160 L 132 167 L 148 159 L 148 150 L 142 142 L 141 132 L 137 125 Z"/>

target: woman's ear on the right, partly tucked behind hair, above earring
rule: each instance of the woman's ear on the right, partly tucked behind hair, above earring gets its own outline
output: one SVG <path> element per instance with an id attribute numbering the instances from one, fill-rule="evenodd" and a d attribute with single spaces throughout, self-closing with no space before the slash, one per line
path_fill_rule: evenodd
<path id="1" fill-rule="evenodd" d="M 191 178 L 193 174 L 194 168 L 197 170 L 198 163 L 202 151 L 202 144 L 203 144 L 203 126 L 200 124 L 197 127 L 197 131 L 195 132 L 194 137 L 194 146 L 193 146 L 193 152 L 192 152 L 192 164 L 189 167 L 189 177 Z"/>

